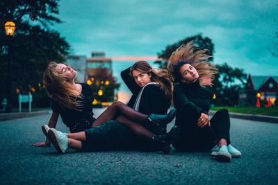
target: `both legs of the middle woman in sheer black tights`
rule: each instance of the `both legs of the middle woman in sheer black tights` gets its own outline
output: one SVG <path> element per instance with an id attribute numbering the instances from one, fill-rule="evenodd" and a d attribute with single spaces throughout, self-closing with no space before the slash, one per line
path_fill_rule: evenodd
<path id="1" fill-rule="evenodd" d="M 154 136 L 152 132 L 149 132 L 149 130 L 139 124 L 140 122 L 152 124 L 149 121 L 149 116 L 142 114 L 119 101 L 109 106 L 92 124 L 92 127 L 97 127 L 111 120 L 115 120 L 123 125 L 126 125 L 142 138 L 150 140 L 152 139 L 152 136 Z"/>

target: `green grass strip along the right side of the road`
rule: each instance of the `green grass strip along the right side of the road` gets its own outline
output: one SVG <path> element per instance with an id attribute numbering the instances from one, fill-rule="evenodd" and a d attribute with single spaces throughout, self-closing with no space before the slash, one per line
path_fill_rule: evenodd
<path id="1" fill-rule="evenodd" d="M 278 106 L 274 107 L 211 107 L 211 110 L 227 109 L 229 112 L 237 112 L 242 114 L 260 114 L 265 116 L 277 116 Z"/>

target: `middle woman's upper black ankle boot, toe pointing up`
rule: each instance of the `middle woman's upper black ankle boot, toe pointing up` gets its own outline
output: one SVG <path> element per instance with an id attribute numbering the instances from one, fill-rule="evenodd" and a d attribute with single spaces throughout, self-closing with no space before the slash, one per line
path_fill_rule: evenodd
<path id="1" fill-rule="evenodd" d="M 177 109 L 172 108 L 170 112 L 166 115 L 160 115 L 160 114 L 151 114 L 149 115 L 149 120 L 153 123 L 156 123 L 156 125 L 165 126 L 167 123 L 170 123 L 174 116 L 176 116 Z"/>

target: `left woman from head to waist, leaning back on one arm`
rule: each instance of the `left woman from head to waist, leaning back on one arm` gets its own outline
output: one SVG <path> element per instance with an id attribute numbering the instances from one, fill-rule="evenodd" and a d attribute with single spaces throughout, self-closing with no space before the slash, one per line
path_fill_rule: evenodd
<path id="1" fill-rule="evenodd" d="M 42 126 L 47 134 L 48 127 L 56 127 L 59 115 L 70 132 L 80 132 L 92 127 L 95 121 L 92 112 L 92 89 L 84 83 L 75 83 L 76 71 L 65 64 L 50 62 L 44 71 L 44 87 L 51 98 L 52 114 L 49 124 Z M 49 139 L 34 146 L 50 146 Z"/>

